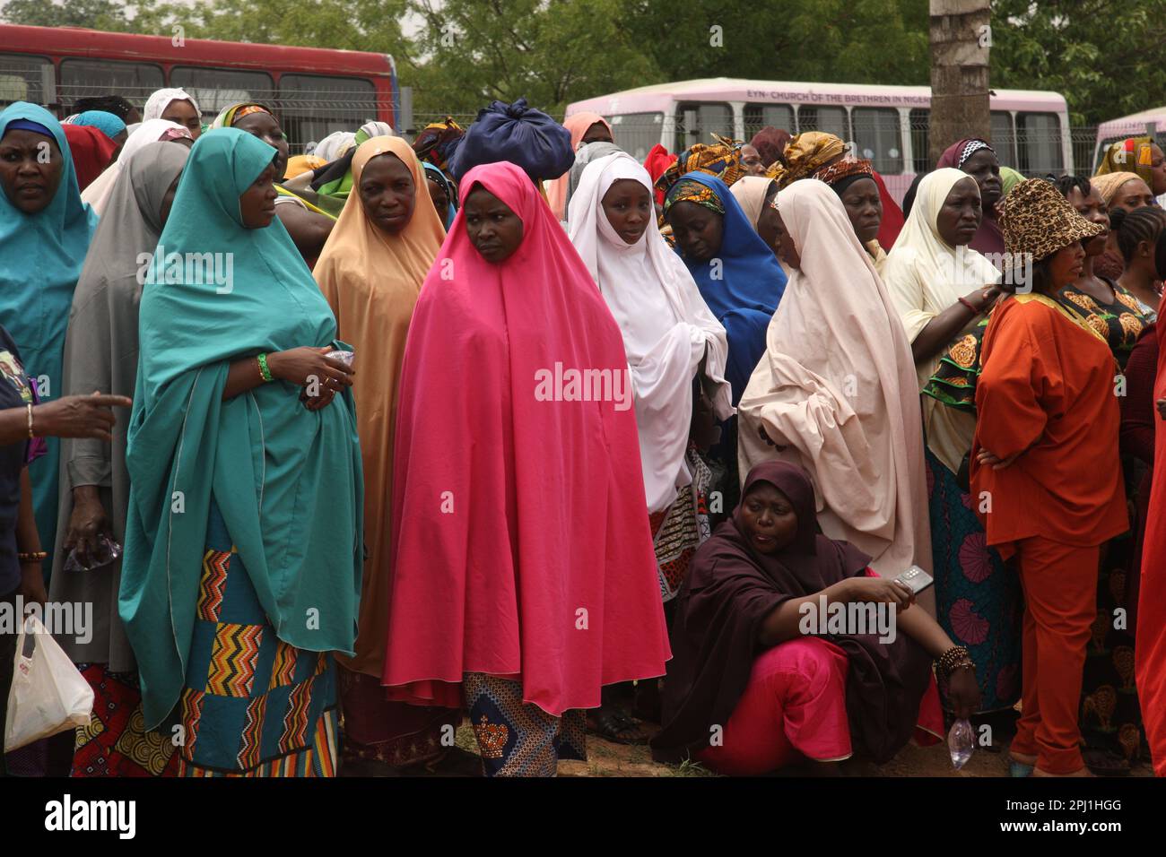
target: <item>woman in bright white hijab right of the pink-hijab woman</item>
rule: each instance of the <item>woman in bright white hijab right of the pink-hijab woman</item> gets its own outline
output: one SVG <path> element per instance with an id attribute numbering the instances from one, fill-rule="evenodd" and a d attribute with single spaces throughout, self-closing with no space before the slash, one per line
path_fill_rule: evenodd
<path id="1" fill-rule="evenodd" d="M 724 378 L 725 329 L 656 229 L 652 180 L 631 155 L 590 161 L 567 217 L 571 243 L 624 335 L 660 596 L 667 603 L 711 534 L 714 477 L 700 452 L 714 440 L 714 421 L 733 413 Z M 641 711 L 658 707 L 654 687 L 637 687 Z M 603 703 L 591 712 L 590 728 L 621 743 L 645 737 L 635 735 L 638 726 L 610 694 Z"/>

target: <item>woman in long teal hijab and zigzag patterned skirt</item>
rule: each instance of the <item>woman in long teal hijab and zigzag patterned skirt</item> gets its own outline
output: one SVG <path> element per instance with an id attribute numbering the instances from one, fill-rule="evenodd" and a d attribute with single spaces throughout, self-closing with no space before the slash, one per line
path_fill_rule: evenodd
<path id="1" fill-rule="evenodd" d="M 141 298 L 119 613 L 187 775 L 333 774 L 330 653 L 356 637 L 347 347 L 275 219 L 275 154 L 198 138 Z"/>

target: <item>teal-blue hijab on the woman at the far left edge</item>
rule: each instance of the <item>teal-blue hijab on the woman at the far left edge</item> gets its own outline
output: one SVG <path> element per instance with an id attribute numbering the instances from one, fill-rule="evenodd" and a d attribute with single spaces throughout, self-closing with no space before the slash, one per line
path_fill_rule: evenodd
<path id="1" fill-rule="evenodd" d="M 0 139 L 19 119 L 37 122 L 51 134 L 64 157 L 52 202 L 26 215 L 0 191 L 0 324 L 20 349 L 24 372 L 36 379 L 41 401 L 63 394 L 61 371 L 72 293 L 80 276 L 97 215 L 80 201 L 77 170 L 59 122 L 43 107 L 15 101 L 0 112 Z M 48 451 L 28 465 L 33 508 L 41 545 L 52 550 L 57 531 L 57 469 L 61 442 L 47 437 Z M 52 557 L 44 562 L 52 568 Z"/>

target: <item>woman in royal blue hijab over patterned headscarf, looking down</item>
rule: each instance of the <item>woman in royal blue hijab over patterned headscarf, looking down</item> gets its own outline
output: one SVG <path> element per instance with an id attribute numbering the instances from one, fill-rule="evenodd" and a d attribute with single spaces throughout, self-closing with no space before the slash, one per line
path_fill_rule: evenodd
<path id="1" fill-rule="evenodd" d="M 786 274 L 716 176 L 682 176 L 665 197 L 663 216 L 676 252 L 729 335 L 725 378 L 736 405 L 765 353 L 765 331 L 786 290 Z"/>

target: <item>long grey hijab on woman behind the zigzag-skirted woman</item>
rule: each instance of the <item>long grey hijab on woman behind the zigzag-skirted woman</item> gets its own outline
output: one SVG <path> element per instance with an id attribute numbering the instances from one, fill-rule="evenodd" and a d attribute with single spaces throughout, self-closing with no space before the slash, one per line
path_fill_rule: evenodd
<path id="1" fill-rule="evenodd" d="M 65 333 L 66 394 L 103 393 L 133 396 L 138 375 L 138 302 L 145 271 L 140 254 L 153 254 L 162 232 L 162 199 L 182 174 L 190 149 L 176 142 L 154 142 L 136 152 L 113 183 L 105 213 L 98 220 L 85 265 L 73 293 Z M 129 412 L 114 408 L 118 421 L 113 443 L 93 438 L 61 443 L 61 526 L 57 527 L 49 597 L 55 602 L 93 605 L 92 635 L 58 641 L 77 663 L 105 663 L 117 673 L 135 669 L 133 649 L 118 617 L 121 561 L 90 571 L 65 571 L 64 549 L 72 514 L 72 490 L 94 485 L 110 522 L 112 538 L 125 543 L 129 504 L 126 470 L 126 431 Z"/>

